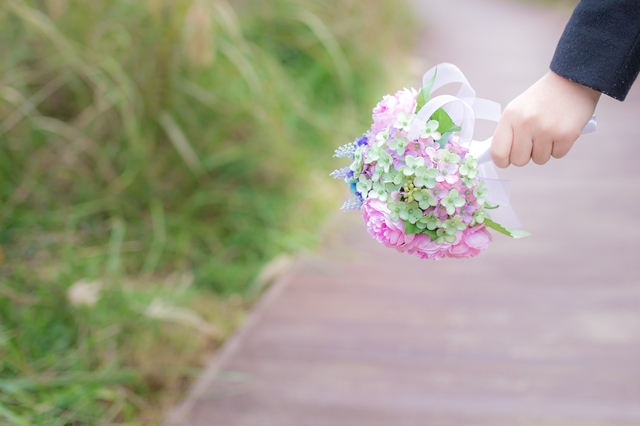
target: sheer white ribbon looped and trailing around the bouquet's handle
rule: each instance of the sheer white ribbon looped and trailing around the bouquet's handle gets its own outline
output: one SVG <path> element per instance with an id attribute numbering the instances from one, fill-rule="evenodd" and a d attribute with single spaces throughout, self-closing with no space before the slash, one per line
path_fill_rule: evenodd
<path id="1" fill-rule="evenodd" d="M 437 73 L 436 73 L 437 69 Z M 409 140 L 417 139 L 422 129 L 424 129 L 429 118 L 440 108 L 443 108 L 451 117 L 454 123 L 460 126 L 461 130 L 457 136 L 457 141 L 461 146 L 469 149 L 476 161 L 478 161 L 478 176 L 484 180 L 485 186 L 489 190 L 490 204 L 498 205 L 497 209 L 491 210 L 491 218 L 505 228 L 520 228 L 522 223 L 518 220 L 511 203 L 509 202 L 510 182 L 498 179 L 498 173 L 491 162 L 491 142 L 493 137 L 484 141 L 473 139 L 473 130 L 476 120 L 488 120 L 497 123 L 502 115 L 502 108 L 499 103 L 487 99 L 476 98 L 476 92 L 469 84 L 458 67 L 450 63 L 441 63 L 427 71 L 422 77 L 422 85 L 426 86 L 436 76 L 431 91 L 451 83 L 461 83 L 456 96 L 441 95 L 429 100 L 417 112 L 408 132 Z M 595 116 L 591 118 L 582 133 L 590 133 L 596 130 Z"/>

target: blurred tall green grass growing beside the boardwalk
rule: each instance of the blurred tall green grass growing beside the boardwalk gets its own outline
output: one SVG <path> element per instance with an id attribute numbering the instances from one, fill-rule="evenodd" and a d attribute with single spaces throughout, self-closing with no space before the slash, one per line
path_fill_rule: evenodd
<path id="1" fill-rule="evenodd" d="M 316 243 L 412 28 L 383 0 L 3 2 L 0 423 L 160 423 Z"/>

